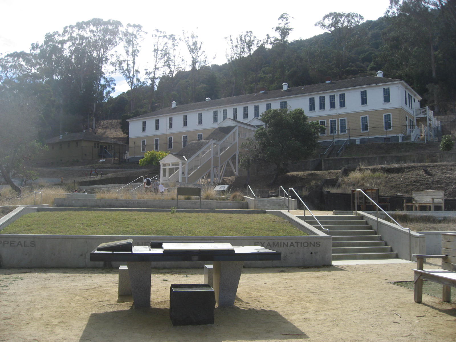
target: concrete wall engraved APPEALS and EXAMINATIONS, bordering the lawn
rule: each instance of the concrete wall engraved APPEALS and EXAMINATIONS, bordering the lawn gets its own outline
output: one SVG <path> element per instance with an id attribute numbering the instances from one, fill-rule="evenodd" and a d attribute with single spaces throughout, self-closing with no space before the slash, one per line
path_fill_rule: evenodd
<path id="1" fill-rule="evenodd" d="M 8 224 L 28 212 L 44 211 L 83 211 L 100 210 L 94 208 L 18 208 L 7 218 Z M 131 209 L 101 209 L 105 211 Z M 154 209 L 142 209 L 155 211 Z M 161 209 L 156 209 L 162 211 Z M 184 211 L 184 210 L 182 210 Z M 199 212 L 185 210 L 186 212 Z M 208 212 L 208 211 L 204 211 Z M 331 236 L 316 230 L 309 224 L 285 211 L 266 210 L 220 210 L 209 211 L 219 213 L 270 213 L 283 217 L 295 227 L 309 233 L 309 236 L 103 236 L 103 235 L 31 235 L 31 234 L 0 234 L 0 268 L 14 267 L 103 267 L 101 262 L 91 262 L 90 252 L 99 244 L 109 241 L 133 238 L 135 245 L 147 245 L 151 240 L 208 240 L 218 243 L 230 243 L 234 246 L 259 245 L 282 252 L 280 261 L 246 262 L 247 267 L 291 267 L 291 266 L 323 266 L 331 265 Z M 9 215 L 10 215 L 9 214 Z M 0 227 L 2 221 L 0 219 Z M 2 228 L 0 228 L 1 230 Z M 204 263 L 154 263 L 153 267 L 197 267 Z M 120 263 L 110 266 L 119 267 Z"/>

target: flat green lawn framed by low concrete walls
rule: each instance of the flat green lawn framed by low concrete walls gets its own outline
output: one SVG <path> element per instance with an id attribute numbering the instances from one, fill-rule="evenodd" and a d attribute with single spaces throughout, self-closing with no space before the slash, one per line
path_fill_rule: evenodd
<path id="1" fill-rule="evenodd" d="M 64 235 L 307 235 L 270 214 L 187 212 L 36 212 L 22 216 L 5 234 Z"/>

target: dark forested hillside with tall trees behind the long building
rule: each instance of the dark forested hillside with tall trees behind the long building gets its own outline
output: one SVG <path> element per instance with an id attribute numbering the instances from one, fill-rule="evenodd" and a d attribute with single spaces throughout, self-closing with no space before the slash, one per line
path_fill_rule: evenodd
<path id="1" fill-rule="evenodd" d="M 138 54 L 146 48 L 140 23 L 123 26 L 97 18 L 69 23 L 29 52 L 0 56 L 0 119 L 26 111 L 26 125 L 43 141 L 62 132 L 96 130 L 100 120 L 127 119 L 172 101 L 185 104 L 378 70 L 405 80 L 437 114 L 454 114 L 455 1 L 391 0 L 385 10 L 376 21 L 328 13 L 315 18 L 325 34 L 295 41 L 288 40 L 293 27 L 284 13 L 275 36 L 248 31 L 227 37 L 223 65 L 209 65 L 204 46 L 210 41 L 157 28 L 150 70 L 138 67 Z M 115 98 L 113 74 L 122 75 L 130 88 Z"/>

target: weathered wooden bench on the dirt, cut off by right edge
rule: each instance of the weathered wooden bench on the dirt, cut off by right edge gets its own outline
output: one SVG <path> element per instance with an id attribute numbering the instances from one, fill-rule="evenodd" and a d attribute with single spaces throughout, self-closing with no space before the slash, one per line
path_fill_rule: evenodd
<path id="1" fill-rule="evenodd" d="M 443 285 L 442 301 L 450 301 L 451 287 L 456 287 L 456 234 L 442 233 L 442 254 L 414 254 L 416 258 L 415 302 L 420 303 L 423 297 L 423 280 L 430 280 Z M 426 258 L 442 259 L 441 269 L 423 269 Z"/>

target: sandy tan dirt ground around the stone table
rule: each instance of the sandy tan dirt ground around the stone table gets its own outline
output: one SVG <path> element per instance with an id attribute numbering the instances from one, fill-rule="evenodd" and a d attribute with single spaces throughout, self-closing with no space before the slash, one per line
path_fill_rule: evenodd
<path id="1" fill-rule="evenodd" d="M 434 266 L 438 260 L 429 259 Z M 456 304 L 389 281 L 415 264 L 244 269 L 233 307 L 215 323 L 173 327 L 171 284 L 202 283 L 202 269 L 153 269 L 150 309 L 117 295 L 115 269 L 0 269 L 0 341 L 456 340 Z"/>

